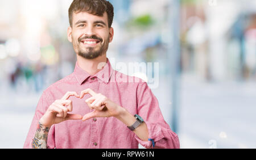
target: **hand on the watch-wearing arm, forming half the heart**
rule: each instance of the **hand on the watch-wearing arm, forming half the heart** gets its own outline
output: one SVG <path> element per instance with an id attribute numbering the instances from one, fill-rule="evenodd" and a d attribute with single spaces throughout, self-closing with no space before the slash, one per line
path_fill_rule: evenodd
<path id="1" fill-rule="evenodd" d="M 90 98 L 86 99 L 85 102 L 88 104 L 93 112 L 87 113 L 82 117 L 82 121 L 94 118 L 94 117 L 116 117 L 121 114 L 123 108 L 118 106 L 106 96 L 102 94 L 97 94 L 91 89 L 86 89 L 81 91 L 80 98 L 83 98 L 85 94 L 92 95 Z"/>

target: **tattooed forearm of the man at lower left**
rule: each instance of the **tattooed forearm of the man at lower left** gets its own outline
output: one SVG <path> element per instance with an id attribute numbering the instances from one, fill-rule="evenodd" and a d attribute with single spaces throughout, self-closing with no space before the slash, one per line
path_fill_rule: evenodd
<path id="1" fill-rule="evenodd" d="M 38 123 L 38 128 L 36 129 L 35 137 L 32 140 L 32 148 L 46 149 L 48 132 L 48 127 L 44 128 L 42 124 Z"/>

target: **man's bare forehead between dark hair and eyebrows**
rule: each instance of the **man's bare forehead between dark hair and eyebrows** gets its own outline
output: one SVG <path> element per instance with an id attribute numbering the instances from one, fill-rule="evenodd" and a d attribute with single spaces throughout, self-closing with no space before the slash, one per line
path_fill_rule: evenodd
<path id="1" fill-rule="evenodd" d="M 95 20 L 103 20 L 105 23 L 108 22 L 108 14 L 104 12 L 103 16 L 97 16 L 90 14 L 88 12 L 73 12 L 73 24 L 79 20 L 86 20 L 88 22 L 95 21 Z"/>

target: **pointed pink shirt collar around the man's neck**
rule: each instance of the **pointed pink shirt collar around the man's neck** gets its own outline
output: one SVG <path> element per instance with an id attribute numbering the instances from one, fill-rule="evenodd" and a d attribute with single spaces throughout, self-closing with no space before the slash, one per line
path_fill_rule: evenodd
<path id="1" fill-rule="evenodd" d="M 107 62 L 105 64 L 104 68 L 102 68 L 100 71 L 98 71 L 98 73 L 96 73 L 94 75 L 90 75 L 85 70 L 81 69 L 80 66 L 78 65 L 78 62 L 76 62 L 76 66 L 75 66 L 75 70 L 74 70 L 74 74 L 77 79 L 77 82 L 79 82 L 79 85 L 82 85 L 82 83 L 88 77 L 97 77 L 101 81 L 108 83 L 112 73 L 113 73 L 113 68 L 112 68 L 108 58 L 107 58 Z"/>

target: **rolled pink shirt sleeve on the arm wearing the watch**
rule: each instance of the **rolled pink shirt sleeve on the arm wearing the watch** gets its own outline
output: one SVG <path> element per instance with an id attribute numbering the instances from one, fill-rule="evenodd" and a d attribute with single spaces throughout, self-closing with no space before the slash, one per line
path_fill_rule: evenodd
<path id="1" fill-rule="evenodd" d="M 144 148 L 180 148 L 179 137 L 164 121 L 158 100 L 146 82 L 139 83 L 137 89 L 137 112 L 148 128 L 148 141 L 135 138 Z"/>

